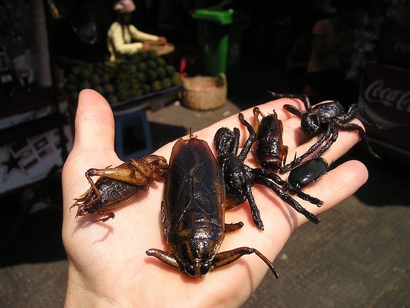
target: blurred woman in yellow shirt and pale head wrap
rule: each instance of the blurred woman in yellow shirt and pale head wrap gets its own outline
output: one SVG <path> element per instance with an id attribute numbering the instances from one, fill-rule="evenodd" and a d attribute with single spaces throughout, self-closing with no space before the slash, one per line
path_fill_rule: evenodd
<path id="1" fill-rule="evenodd" d="M 117 20 L 108 30 L 107 38 L 111 61 L 142 50 L 149 50 L 150 46 L 144 42 L 167 43 L 167 38 L 141 32 L 130 24 L 132 12 L 135 11 L 135 4 L 132 0 L 116 1 L 113 9 Z"/>

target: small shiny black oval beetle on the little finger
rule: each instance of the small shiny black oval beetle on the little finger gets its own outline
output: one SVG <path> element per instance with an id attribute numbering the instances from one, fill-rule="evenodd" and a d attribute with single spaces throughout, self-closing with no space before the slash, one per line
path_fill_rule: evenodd
<path id="1" fill-rule="evenodd" d="M 289 173 L 288 183 L 302 189 L 309 183 L 315 182 L 329 169 L 329 163 L 322 158 L 312 158 L 304 161 Z"/>

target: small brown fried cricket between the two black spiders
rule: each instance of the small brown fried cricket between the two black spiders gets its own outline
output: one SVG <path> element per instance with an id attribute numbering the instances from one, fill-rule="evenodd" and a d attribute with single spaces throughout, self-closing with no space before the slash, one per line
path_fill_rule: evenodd
<path id="1" fill-rule="evenodd" d="M 283 145 L 283 124 L 278 119 L 276 111 L 263 115 L 258 107 L 253 109 L 253 128 L 256 132 L 256 149 L 252 149 L 253 156 L 259 166 L 268 171 L 276 172 L 286 162 L 288 147 Z M 259 114 L 262 120 L 259 120 Z"/>

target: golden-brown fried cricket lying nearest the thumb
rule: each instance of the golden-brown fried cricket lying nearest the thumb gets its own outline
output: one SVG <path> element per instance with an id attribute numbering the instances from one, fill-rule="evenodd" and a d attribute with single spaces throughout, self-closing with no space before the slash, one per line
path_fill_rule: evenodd
<path id="1" fill-rule="evenodd" d="M 75 218 L 92 213 L 104 216 L 93 222 L 105 222 L 115 216 L 110 210 L 135 199 L 148 190 L 151 180 L 162 180 L 167 168 L 165 158 L 148 155 L 140 159 L 129 159 L 115 168 L 89 169 L 86 171 L 86 178 L 91 187 L 83 196 L 75 199 L 70 210 L 78 206 Z M 100 176 L 100 178 L 94 183 L 91 179 L 93 176 Z"/>

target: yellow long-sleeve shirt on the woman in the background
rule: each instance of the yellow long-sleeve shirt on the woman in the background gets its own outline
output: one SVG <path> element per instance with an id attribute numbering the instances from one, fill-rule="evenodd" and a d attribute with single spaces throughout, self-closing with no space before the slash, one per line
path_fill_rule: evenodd
<path id="1" fill-rule="evenodd" d="M 118 22 L 111 25 L 107 37 L 111 61 L 120 58 L 122 55 L 137 53 L 142 49 L 142 42 L 158 41 L 156 35 L 141 32 L 133 25 L 122 26 Z M 132 39 L 139 42 L 131 43 Z"/>

